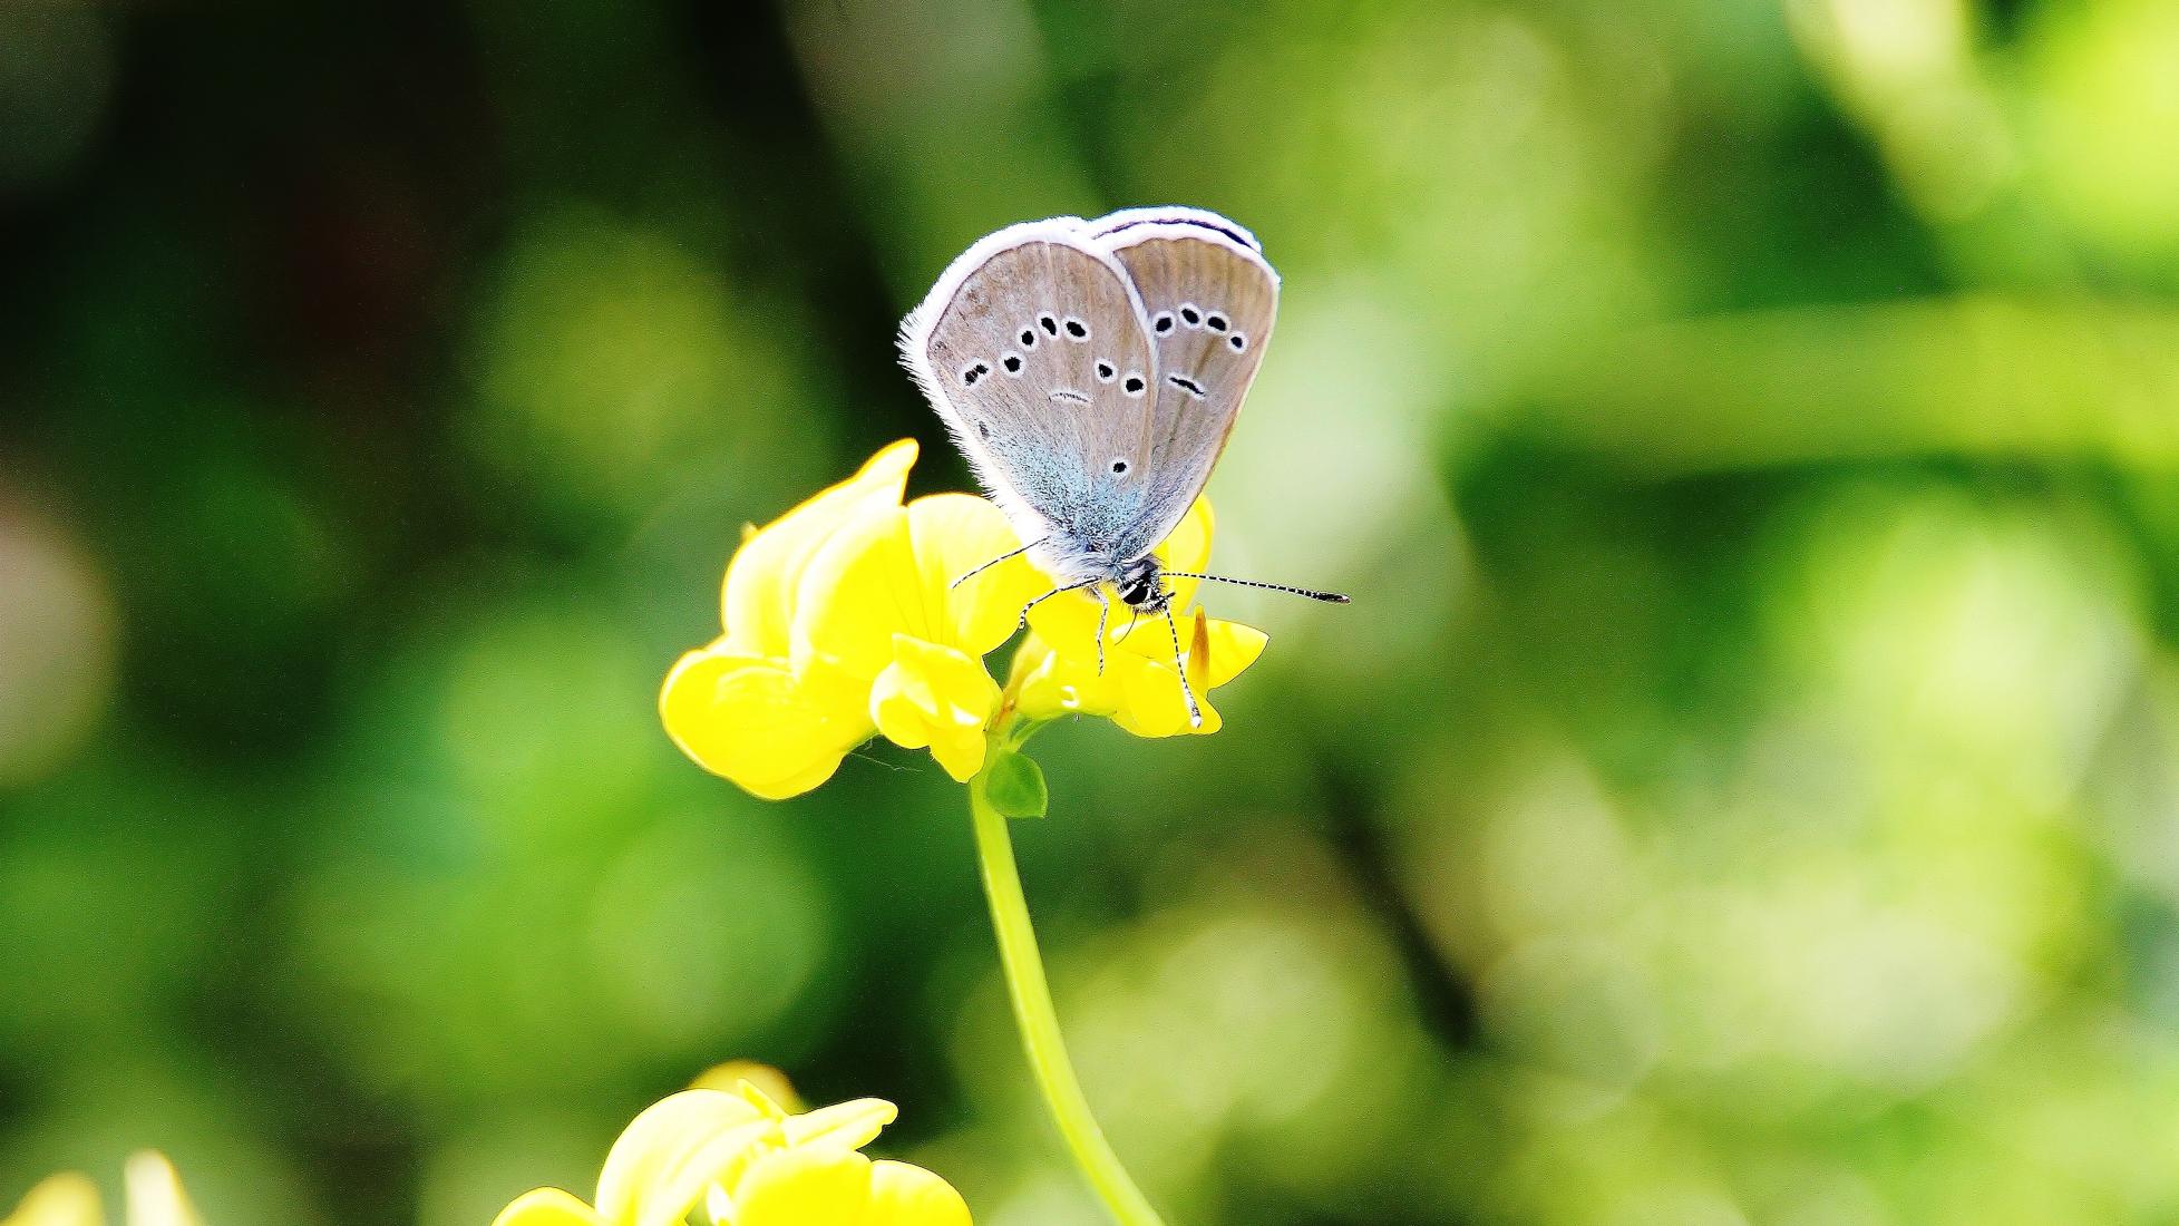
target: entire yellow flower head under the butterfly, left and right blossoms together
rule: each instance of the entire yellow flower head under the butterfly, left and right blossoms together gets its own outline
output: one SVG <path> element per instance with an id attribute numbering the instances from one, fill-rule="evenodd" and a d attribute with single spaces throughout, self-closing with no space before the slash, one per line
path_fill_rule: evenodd
<path id="1" fill-rule="evenodd" d="M 1190 610 L 1196 579 L 1168 579 L 1188 679 L 1203 710 L 1190 727 L 1164 616 L 1135 623 L 1122 605 L 1105 627 L 1098 601 L 1068 592 L 1031 612 L 1013 662 L 1013 706 L 983 658 L 1052 588 L 1007 516 L 970 494 L 902 505 L 915 442 L 902 440 L 763 529 L 726 568 L 726 634 L 667 673 L 658 714 L 682 753 L 765 799 L 832 777 L 856 745 L 885 736 L 930 749 L 959 782 L 983 769 L 985 732 L 1007 710 L 1028 719 L 1111 716 L 1135 736 L 1218 732 L 1209 692 L 1255 662 L 1266 636 Z M 1201 571 L 1212 510 L 1196 501 L 1157 547 L 1170 571 Z M 976 571 L 972 579 L 957 579 Z M 1109 597 L 1109 592 L 1107 592 Z"/>

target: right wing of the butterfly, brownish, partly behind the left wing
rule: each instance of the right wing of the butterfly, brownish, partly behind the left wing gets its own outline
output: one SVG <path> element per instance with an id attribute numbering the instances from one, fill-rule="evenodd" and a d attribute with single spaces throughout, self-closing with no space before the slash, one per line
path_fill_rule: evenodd
<path id="1" fill-rule="evenodd" d="M 1255 235 L 1201 209 L 1127 209 L 1085 224 L 1127 268 L 1157 348 L 1151 492 L 1129 555 L 1157 547 L 1225 451 L 1279 316 L 1279 274 Z"/>

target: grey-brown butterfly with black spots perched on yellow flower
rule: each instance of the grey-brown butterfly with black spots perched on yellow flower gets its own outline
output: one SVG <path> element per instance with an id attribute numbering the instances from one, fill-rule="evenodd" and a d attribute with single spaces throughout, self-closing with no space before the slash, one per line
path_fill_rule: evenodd
<path id="1" fill-rule="evenodd" d="M 1336 592 L 1183 575 L 1151 553 L 1188 514 L 1233 433 L 1279 314 L 1255 235 L 1205 209 L 1122 209 L 991 233 L 961 253 L 900 324 L 900 355 L 991 501 L 1061 592 L 1166 618 L 1166 579 L 1212 579 L 1347 603 Z"/>

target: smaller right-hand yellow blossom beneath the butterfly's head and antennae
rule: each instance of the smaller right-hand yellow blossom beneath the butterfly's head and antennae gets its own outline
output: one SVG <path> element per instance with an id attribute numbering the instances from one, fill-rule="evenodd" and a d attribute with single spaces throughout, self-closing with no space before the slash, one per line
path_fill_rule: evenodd
<path id="1" fill-rule="evenodd" d="M 1212 505 L 1198 499 L 1172 536 L 1157 547 L 1168 571 L 1201 573 L 1212 555 Z M 1196 579 L 1168 579 L 1172 616 L 1188 660 L 1188 682 L 1203 727 L 1188 725 L 1188 699 L 1172 669 L 1172 632 L 1166 618 L 1133 621 L 1120 605 L 1105 625 L 1105 671 L 1098 673 L 1096 597 L 1070 592 L 1044 601 L 1028 614 L 1033 634 L 1013 658 L 1013 690 L 1028 719 L 1057 714 L 1103 714 L 1135 736 L 1218 732 L 1222 721 L 1209 692 L 1238 677 L 1264 653 L 1268 636 L 1238 621 L 1220 621 L 1190 610 Z"/>

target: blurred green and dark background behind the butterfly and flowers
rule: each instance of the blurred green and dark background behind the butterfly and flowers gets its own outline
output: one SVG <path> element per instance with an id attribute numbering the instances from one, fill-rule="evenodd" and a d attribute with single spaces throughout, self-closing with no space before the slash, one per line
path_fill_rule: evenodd
<path id="1" fill-rule="evenodd" d="M 482 1226 L 702 1067 L 1098 1222 L 961 793 L 656 684 L 1000 224 L 1286 274 L 1227 732 L 1039 738 L 1183 1224 L 2179 1222 L 2179 4 L 0 4 L 0 1204 Z"/>

